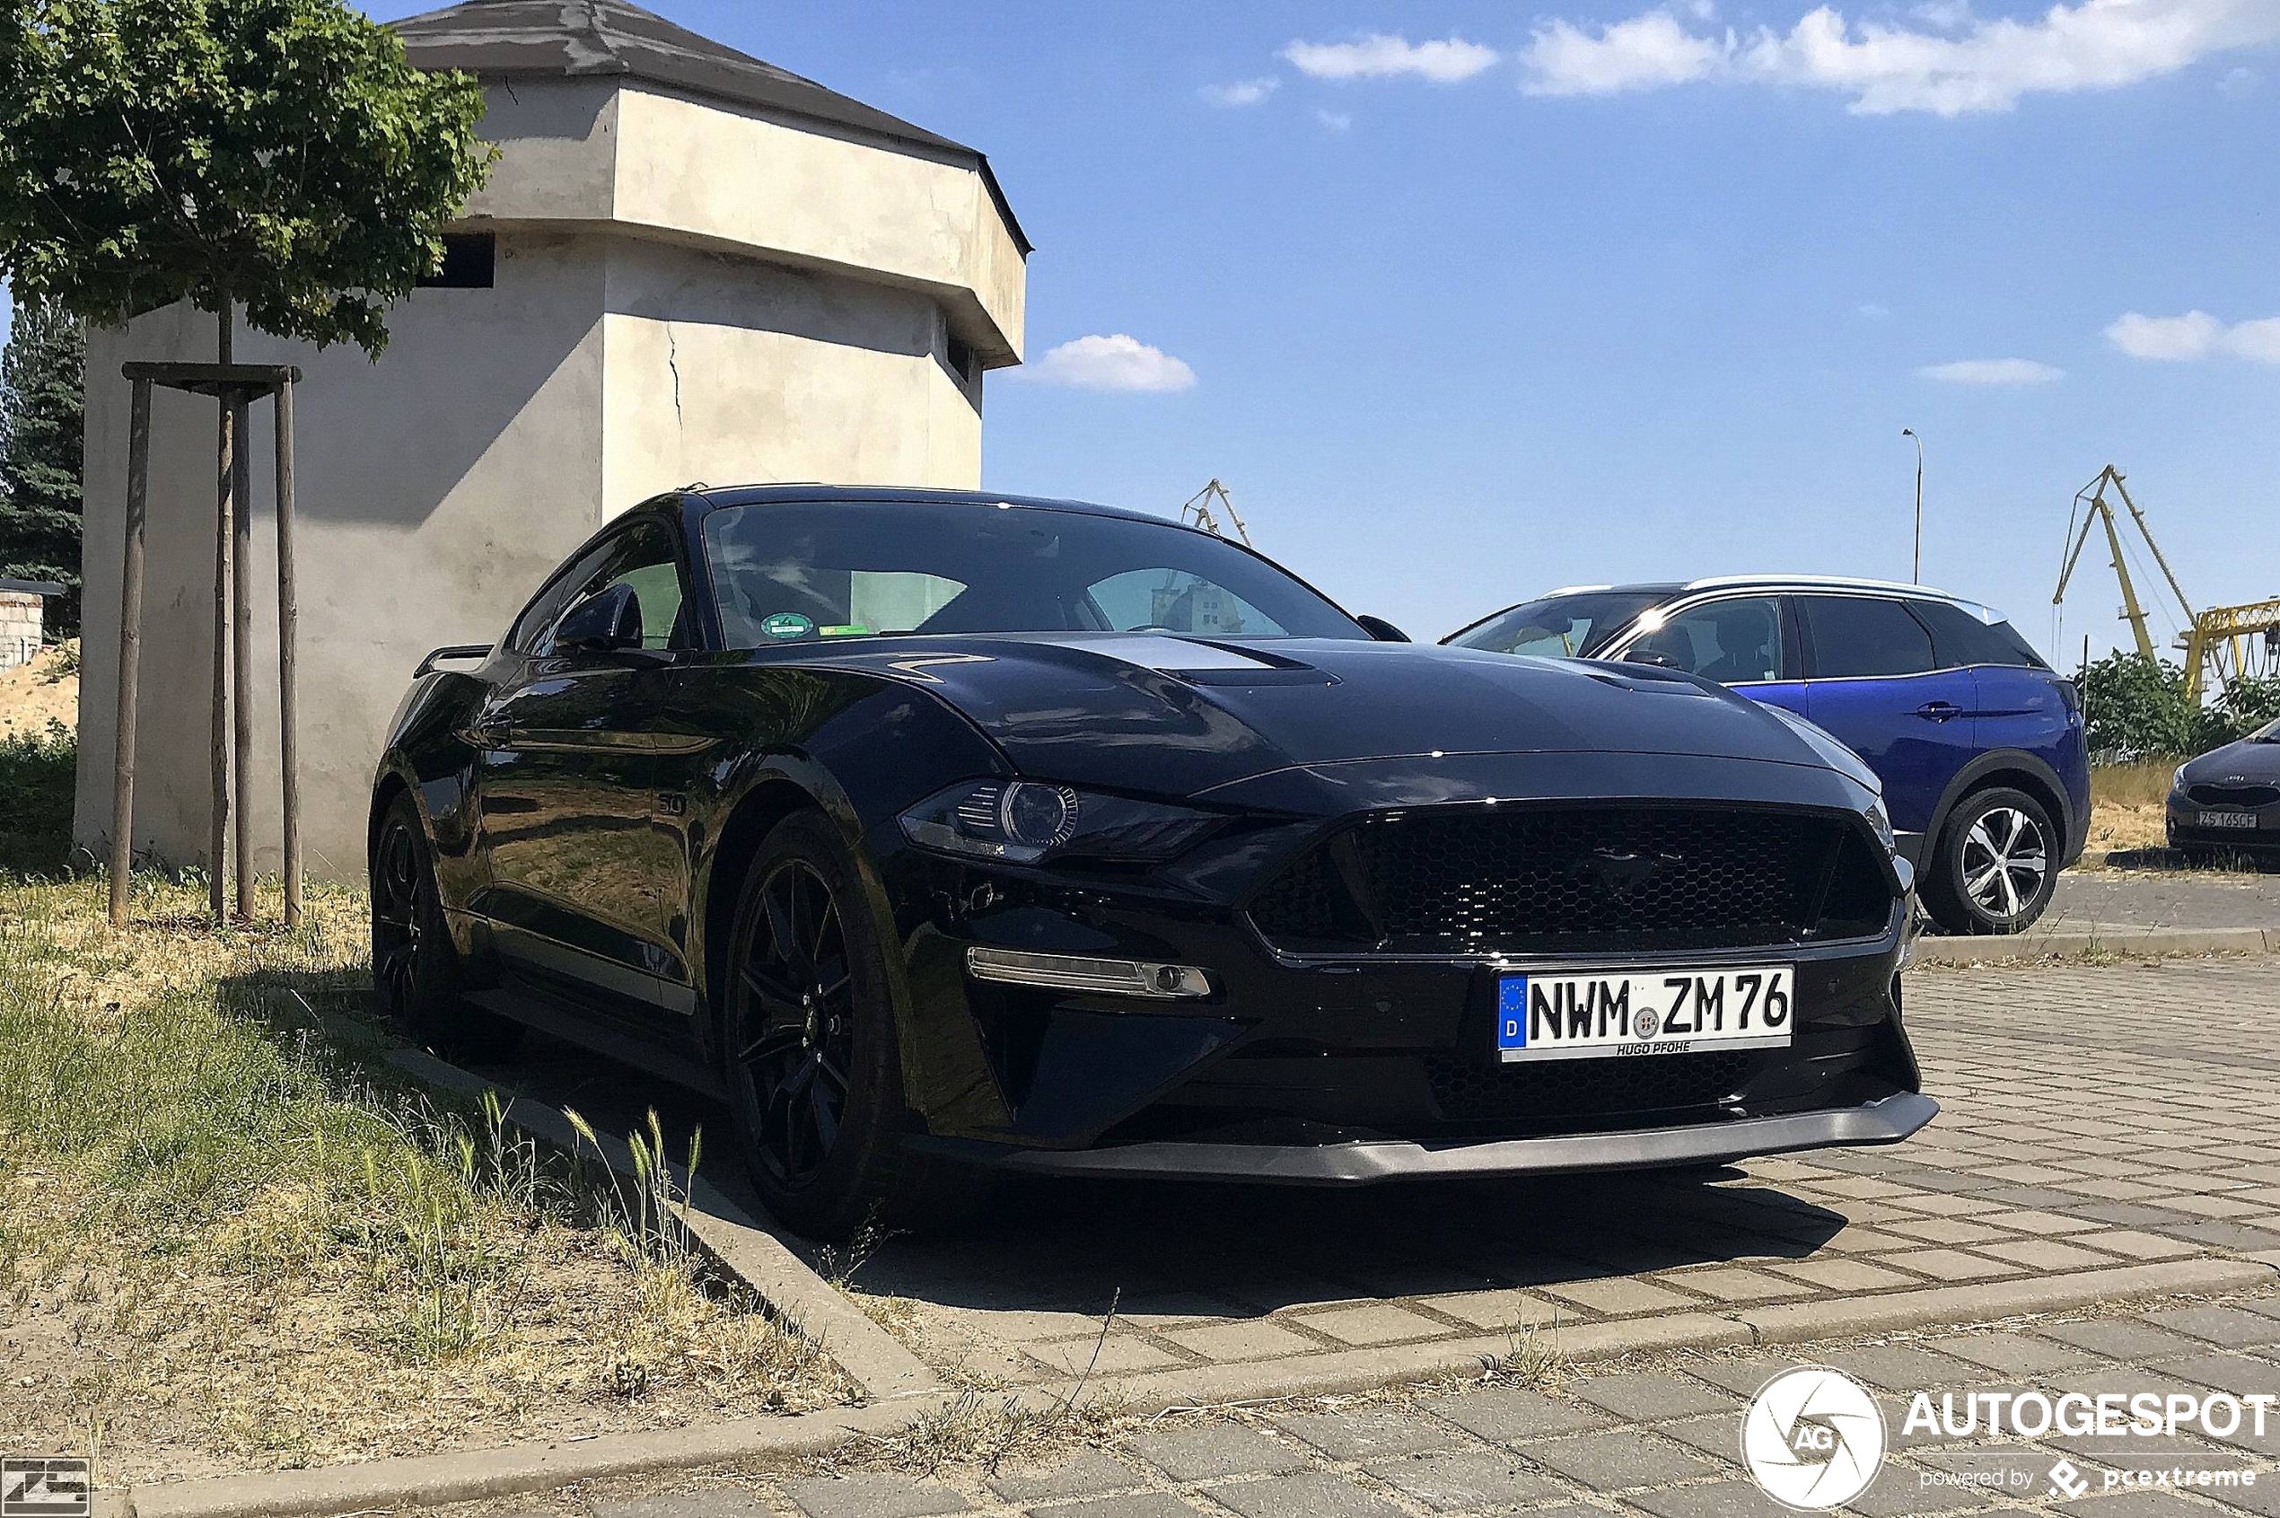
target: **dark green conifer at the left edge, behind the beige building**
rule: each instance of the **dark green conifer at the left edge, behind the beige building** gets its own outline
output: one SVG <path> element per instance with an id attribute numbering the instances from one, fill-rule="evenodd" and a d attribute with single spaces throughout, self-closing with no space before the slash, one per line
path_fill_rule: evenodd
<path id="1" fill-rule="evenodd" d="M 52 579 L 48 631 L 80 634 L 80 463 L 87 328 L 62 301 L 16 310 L 0 349 L 0 577 Z"/>

